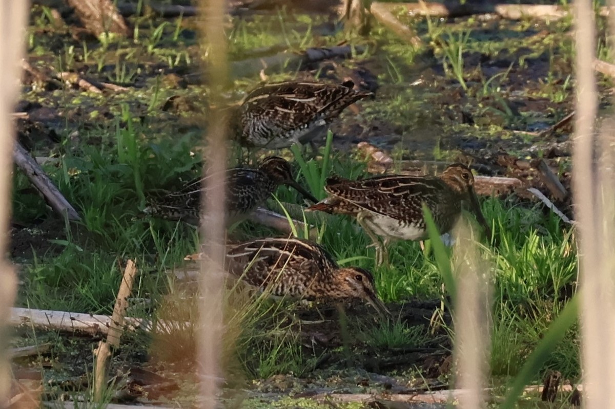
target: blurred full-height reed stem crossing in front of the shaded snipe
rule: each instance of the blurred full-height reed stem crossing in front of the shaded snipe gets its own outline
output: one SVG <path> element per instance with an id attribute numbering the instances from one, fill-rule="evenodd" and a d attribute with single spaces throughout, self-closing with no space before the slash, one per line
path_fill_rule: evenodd
<path id="1" fill-rule="evenodd" d="M 226 1 L 200 0 L 201 50 L 205 51 L 205 82 L 209 101 L 220 107 L 221 87 L 227 82 Z M 224 195 L 226 168 L 225 115 L 210 109 L 207 126 L 204 190 L 201 209 L 201 240 L 206 257 L 201 261 L 198 357 L 201 381 L 201 407 L 216 407 L 218 380 L 222 376 L 221 337 L 223 330 Z"/>

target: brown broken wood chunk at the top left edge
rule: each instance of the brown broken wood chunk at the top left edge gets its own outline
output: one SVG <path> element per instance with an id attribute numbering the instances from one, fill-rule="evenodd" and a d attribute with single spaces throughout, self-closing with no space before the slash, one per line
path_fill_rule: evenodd
<path id="1" fill-rule="evenodd" d="M 79 20 L 92 34 L 100 37 L 106 33 L 127 36 L 129 29 L 111 0 L 67 0 Z"/>

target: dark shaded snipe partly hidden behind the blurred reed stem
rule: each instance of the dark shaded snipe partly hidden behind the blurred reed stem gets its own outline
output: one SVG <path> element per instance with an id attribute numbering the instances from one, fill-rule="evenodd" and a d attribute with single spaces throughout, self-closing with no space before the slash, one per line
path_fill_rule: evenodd
<path id="1" fill-rule="evenodd" d="M 179 192 L 151 200 L 144 212 L 169 220 L 199 224 L 202 179 L 186 185 Z M 318 200 L 295 181 L 290 164 L 277 156 L 264 158 L 258 168 L 237 167 L 226 170 L 227 224 L 244 219 L 274 193 L 279 185 L 296 189 L 303 197 Z M 207 194 L 207 193 L 206 193 Z"/>

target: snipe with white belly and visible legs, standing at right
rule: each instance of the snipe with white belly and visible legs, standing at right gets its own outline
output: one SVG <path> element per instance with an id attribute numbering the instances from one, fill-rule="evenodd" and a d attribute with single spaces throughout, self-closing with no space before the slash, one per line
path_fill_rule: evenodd
<path id="1" fill-rule="evenodd" d="M 461 163 L 448 166 L 440 176 L 392 174 L 358 181 L 331 177 L 325 191 L 329 197 L 306 210 L 357 217 L 376 246 L 378 264 L 388 262 L 389 241 L 427 239 L 423 203 L 441 234 L 450 232 L 461 215 L 462 203 L 467 201 L 485 232 L 490 231 L 474 192 L 472 171 Z M 378 236 L 384 238 L 384 243 Z"/>

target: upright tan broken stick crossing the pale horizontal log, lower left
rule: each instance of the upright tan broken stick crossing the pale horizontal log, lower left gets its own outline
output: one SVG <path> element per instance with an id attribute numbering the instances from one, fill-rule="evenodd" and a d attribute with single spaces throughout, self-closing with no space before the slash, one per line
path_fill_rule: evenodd
<path id="1" fill-rule="evenodd" d="M 128 297 L 132 292 L 132 284 L 135 281 L 137 275 L 137 267 L 132 260 L 128 260 L 126 268 L 124 269 L 124 275 L 122 275 L 122 282 L 117 291 L 116 303 L 113 306 L 113 314 L 111 314 L 111 321 L 109 321 L 109 329 L 107 333 L 106 342 L 100 340 L 98 348 L 94 351 L 96 356 L 96 365 L 94 368 L 94 396 L 97 402 L 100 402 L 103 398 L 103 392 L 105 391 L 105 384 L 107 381 L 106 363 L 111 356 L 111 346 L 119 345 L 119 338 L 124 332 L 124 319 L 126 314 L 126 308 L 128 307 Z"/>

